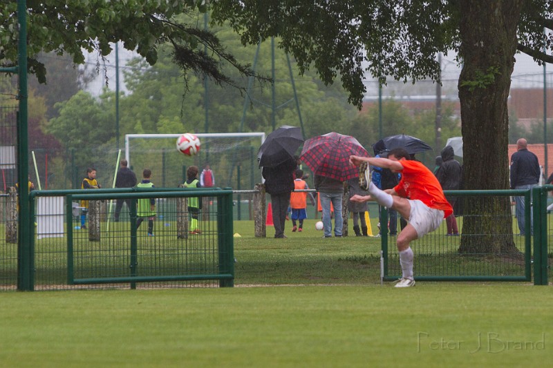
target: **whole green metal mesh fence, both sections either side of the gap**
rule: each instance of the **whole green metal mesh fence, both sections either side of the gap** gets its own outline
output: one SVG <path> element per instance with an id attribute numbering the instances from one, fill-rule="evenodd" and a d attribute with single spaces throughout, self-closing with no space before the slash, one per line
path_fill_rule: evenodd
<path id="1" fill-rule="evenodd" d="M 523 195 L 530 203 L 531 191 L 456 191 L 456 220 L 460 236 L 447 235 L 445 223 L 437 231 L 412 243 L 417 280 L 525 281 L 548 284 L 553 237 L 547 204 L 553 186 L 532 190 L 532 208 L 526 206 L 526 235 L 518 235 L 512 211 L 493 211 L 498 200 Z M 243 193 L 244 195 L 244 193 Z M 188 213 L 179 201 L 199 196 L 205 204 L 200 216 L 200 234 L 183 229 Z M 0 289 L 95 289 L 134 287 L 217 287 L 234 284 L 234 239 L 232 221 L 236 193 L 225 190 L 98 189 L 94 191 L 33 191 L 30 193 L 30 220 L 35 234 L 25 244 L 17 237 L 15 191 L 0 195 Z M 113 222 L 115 202 L 128 198 L 131 209 L 123 207 L 120 222 Z M 135 215 L 138 198 L 155 198 L 157 215 L 153 237 L 148 224 L 140 227 Z M 80 227 L 80 200 L 98 204 L 97 231 Z M 467 206 L 469 206 L 467 208 Z M 514 205 L 513 205 L 514 206 Z M 77 208 L 74 208 L 77 207 Z M 464 208 L 463 208 L 464 207 Z M 487 209 L 482 211 L 481 209 Z M 534 213 L 531 231 L 530 211 Z M 14 216 L 13 213 L 16 213 Z M 382 211 L 384 218 L 385 211 Z M 57 220 L 56 220 L 56 218 Z M 57 222 L 56 222 L 57 221 Z M 471 221 L 498 221 L 510 224 L 505 233 L 489 235 L 468 231 Z M 61 222 L 61 224 L 60 224 Z M 381 220 L 385 224 L 384 220 Z M 399 221 L 398 221 L 399 225 Z M 15 226 L 15 229 L 14 229 Z M 400 275 L 395 238 L 382 226 L 384 280 Z M 183 232 L 184 230 L 184 232 Z M 15 236 L 14 236 L 15 234 Z M 479 245 L 489 237 L 503 238 L 510 251 L 461 251 L 463 240 Z M 468 239 L 468 240 L 467 240 Z M 475 240 L 475 241 L 470 241 Z M 467 243 L 465 243 L 466 245 Z M 485 245 L 485 244 L 484 244 Z"/>

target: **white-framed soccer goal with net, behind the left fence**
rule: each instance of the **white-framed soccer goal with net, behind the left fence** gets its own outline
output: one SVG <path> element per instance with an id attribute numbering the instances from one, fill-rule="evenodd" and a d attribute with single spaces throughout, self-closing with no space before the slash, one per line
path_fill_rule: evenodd
<path id="1" fill-rule="evenodd" d="M 198 154 L 183 155 L 176 149 L 180 134 L 127 134 L 125 158 L 138 180 L 144 168 L 152 172 L 151 181 L 158 187 L 176 187 L 186 180 L 189 166 L 206 164 L 214 173 L 215 186 L 252 189 L 261 182 L 257 151 L 265 133 L 198 133 Z M 198 175 L 199 179 L 199 175 Z"/>

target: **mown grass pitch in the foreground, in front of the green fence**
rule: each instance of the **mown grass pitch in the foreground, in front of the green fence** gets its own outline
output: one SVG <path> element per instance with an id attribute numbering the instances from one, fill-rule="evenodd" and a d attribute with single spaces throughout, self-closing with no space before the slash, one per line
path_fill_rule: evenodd
<path id="1" fill-rule="evenodd" d="M 525 284 L 3 293 L 3 367 L 545 367 Z"/>

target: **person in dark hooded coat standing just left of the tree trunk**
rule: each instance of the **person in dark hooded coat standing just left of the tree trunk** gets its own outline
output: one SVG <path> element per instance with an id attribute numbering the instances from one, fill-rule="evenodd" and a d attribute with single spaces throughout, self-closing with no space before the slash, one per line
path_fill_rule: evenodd
<path id="1" fill-rule="evenodd" d="M 444 191 L 457 191 L 460 188 L 462 167 L 461 164 L 453 158 L 453 147 L 445 146 L 442 150 L 442 164 L 435 175 Z M 451 207 L 453 207 L 457 201 L 457 197 L 451 195 L 448 195 L 446 199 L 447 202 L 451 204 Z M 447 224 L 447 235 L 459 235 L 455 215 L 451 213 L 451 215 L 447 216 L 445 221 Z"/>

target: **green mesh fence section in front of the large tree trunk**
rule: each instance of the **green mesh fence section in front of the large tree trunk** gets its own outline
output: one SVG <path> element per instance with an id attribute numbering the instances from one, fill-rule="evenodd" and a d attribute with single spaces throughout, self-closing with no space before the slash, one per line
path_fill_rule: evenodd
<path id="1" fill-rule="evenodd" d="M 553 187 L 552 187 L 553 188 Z M 532 241 L 534 249 L 547 249 L 545 239 L 532 240 L 530 206 L 525 206 L 525 236 L 518 235 L 514 209 L 505 211 L 509 197 L 522 195 L 525 202 L 531 202 L 531 191 L 445 191 L 446 195 L 457 197 L 456 221 L 460 235 L 447 235 L 446 221 L 440 228 L 421 239 L 411 242 L 415 254 L 414 271 L 416 280 L 426 281 L 530 281 L 532 280 Z M 534 200 L 536 200 L 534 194 Z M 503 203 L 503 206 L 498 206 Z M 534 202 L 535 203 L 535 202 Z M 514 207 L 514 205 L 512 205 Z M 494 210 L 496 209 L 496 210 Z M 534 206 L 534 235 L 539 222 L 547 214 L 541 207 Z M 382 211 L 381 223 L 386 224 L 386 211 Z M 482 231 L 488 224 L 500 222 L 504 226 L 493 235 Z M 472 226 L 467 226 L 471 223 Z M 474 226 L 476 223 L 477 226 Z M 398 220 L 399 225 L 399 220 Z M 395 238 L 388 235 L 386 226 L 382 234 L 382 278 L 397 280 L 401 277 L 399 255 Z M 494 239 L 491 240 L 491 237 Z M 501 245 L 489 243 L 498 241 Z M 538 253 L 534 251 L 534 253 Z M 534 257 L 536 255 L 534 254 Z"/>

